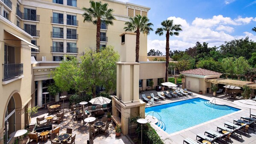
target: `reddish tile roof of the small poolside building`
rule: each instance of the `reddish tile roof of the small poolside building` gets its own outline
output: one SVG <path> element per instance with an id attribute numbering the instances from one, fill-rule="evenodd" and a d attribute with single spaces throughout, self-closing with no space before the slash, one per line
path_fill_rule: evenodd
<path id="1" fill-rule="evenodd" d="M 218 73 L 216 71 L 210 71 L 203 68 L 196 68 L 188 71 L 181 71 L 181 74 L 194 74 L 200 76 L 211 76 L 211 75 L 221 75 L 222 73 Z"/>

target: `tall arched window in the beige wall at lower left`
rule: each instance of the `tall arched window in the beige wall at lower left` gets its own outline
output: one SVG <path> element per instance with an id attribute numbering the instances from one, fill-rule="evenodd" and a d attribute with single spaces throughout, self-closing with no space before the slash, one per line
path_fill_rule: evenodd
<path id="1" fill-rule="evenodd" d="M 13 97 L 9 100 L 7 109 L 6 109 L 6 115 L 4 119 L 4 144 L 7 144 L 10 140 L 9 135 L 15 131 L 15 102 Z"/>

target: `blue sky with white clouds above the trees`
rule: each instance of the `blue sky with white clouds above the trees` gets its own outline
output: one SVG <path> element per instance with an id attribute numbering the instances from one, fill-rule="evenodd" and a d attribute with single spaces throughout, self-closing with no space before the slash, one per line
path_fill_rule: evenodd
<path id="1" fill-rule="evenodd" d="M 148 13 L 154 32 L 148 35 L 148 51 L 165 55 L 165 34 L 156 35 L 164 20 L 181 24 L 179 36 L 170 37 L 170 50 L 186 50 L 199 41 L 208 47 L 249 36 L 256 42 L 256 0 L 119 0 L 151 8 Z"/>

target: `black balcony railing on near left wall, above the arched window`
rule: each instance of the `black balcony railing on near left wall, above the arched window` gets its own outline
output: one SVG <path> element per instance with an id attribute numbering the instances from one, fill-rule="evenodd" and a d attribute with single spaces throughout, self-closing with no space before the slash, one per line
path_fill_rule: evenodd
<path id="1" fill-rule="evenodd" d="M 3 64 L 3 80 L 21 76 L 23 74 L 23 64 Z"/>

